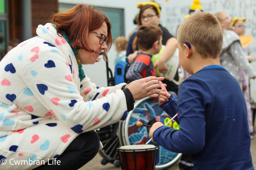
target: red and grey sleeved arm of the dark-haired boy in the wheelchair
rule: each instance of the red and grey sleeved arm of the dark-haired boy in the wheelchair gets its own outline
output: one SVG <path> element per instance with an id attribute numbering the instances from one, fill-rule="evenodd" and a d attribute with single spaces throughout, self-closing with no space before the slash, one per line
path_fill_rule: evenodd
<path id="1" fill-rule="evenodd" d="M 126 73 L 126 78 L 130 81 L 143 78 L 142 71 L 144 71 L 147 68 L 149 63 L 150 63 L 150 59 L 148 56 L 146 55 L 137 56 L 134 63 L 130 65 Z"/>

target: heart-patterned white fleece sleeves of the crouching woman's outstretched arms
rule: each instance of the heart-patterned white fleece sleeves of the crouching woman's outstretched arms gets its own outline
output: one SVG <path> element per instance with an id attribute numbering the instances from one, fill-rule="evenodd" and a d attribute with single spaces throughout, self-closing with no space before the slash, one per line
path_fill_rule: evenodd
<path id="1" fill-rule="evenodd" d="M 122 85 L 100 89 L 86 77 L 82 97 L 74 79 L 70 78 L 78 72 L 71 73 L 62 53 L 40 52 L 38 55 L 36 62 L 29 61 L 25 65 L 23 80 L 42 105 L 63 124 L 82 133 L 125 120 L 128 110 Z M 37 75 L 33 76 L 32 70 Z M 92 90 L 86 94 L 88 88 Z"/>

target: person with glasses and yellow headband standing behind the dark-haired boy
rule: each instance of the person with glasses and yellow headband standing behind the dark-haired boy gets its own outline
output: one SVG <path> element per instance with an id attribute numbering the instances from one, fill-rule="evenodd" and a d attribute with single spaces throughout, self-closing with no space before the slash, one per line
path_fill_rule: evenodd
<path id="1" fill-rule="evenodd" d="M 161 7 L 156 2 L 147 1 L 144 3 L 138 3 L 137 8 L 140 9 L 139 15 L 137 17 L 138 26 L 143 24 L 158 25 L 163 31 L 162 44 L 165 45 L 165 49 L 160 59 L 154 64 L 154 66 L 158 69 L 159 72 L 166 73 L 169 70 L 166 66 L 166 62 L 172 57 L 177 48 L 177 39 L 173 37 L 173 35 L 171 35 L 169 31 L 159 23 L 161 16 Z M 126 56 L 128 56 L 129 61 L 127 60 L 127 62 L 132 62 L 138 50 L 139 49 L 136 44 L 136 32 L 134 32 L 130 36 L 130 39 L 128 41 Z M 174 79 L 176 81 L 179 80 L 178 71 L 176 72 Z M 177 91 L 178 85 L 176 85 L 175 83 L 166 79 L 163 80 L 163 83 L 167 84 L 168 91 Z"/>

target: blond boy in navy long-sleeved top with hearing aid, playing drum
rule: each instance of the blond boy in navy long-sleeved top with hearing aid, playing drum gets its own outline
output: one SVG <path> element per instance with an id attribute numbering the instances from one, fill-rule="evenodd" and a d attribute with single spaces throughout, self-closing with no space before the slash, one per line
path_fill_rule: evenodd
<path id="1" fill-rule="evenodd" d="M 195 170 L 253 169 L 244 97 L 236 79 L 219 63 L 222 34 L 210 13 L 195 13 L 181 24 L 179 62 L 192 76 L 181 83 L 178 100 L 163 85 L 159 96 L 164 111 L 170 116 L 178 112 L 180 129 L 156 122 L 149 132 L 164 148 L 192 154 Z"/>

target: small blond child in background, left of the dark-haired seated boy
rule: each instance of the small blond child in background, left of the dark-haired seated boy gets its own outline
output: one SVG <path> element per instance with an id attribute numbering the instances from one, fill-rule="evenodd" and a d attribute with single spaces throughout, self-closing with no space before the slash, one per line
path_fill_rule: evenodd
<path id="1" fill-rule="evenodd" d="M 115 65 L 118 61 L 122 60 L 126 62 L 126 48 L 128 44 L 128 39 L 124 36 L 117 37 L 115 40 L 117 55 L 115 57 Z"/>

